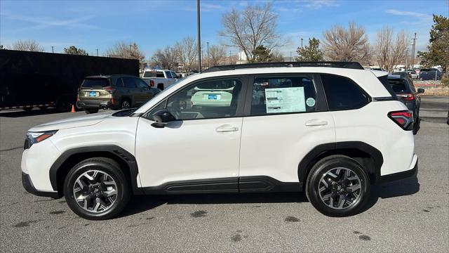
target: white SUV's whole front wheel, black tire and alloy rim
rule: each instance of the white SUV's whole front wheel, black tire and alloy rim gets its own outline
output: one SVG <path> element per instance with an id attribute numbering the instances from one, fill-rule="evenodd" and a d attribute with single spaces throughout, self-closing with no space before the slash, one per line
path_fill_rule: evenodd
<path id="1" fill-rule="evenodd" d="M 119 164 L 96 157 L 73 167 L 64 182 L 67 205 L 84 219 L 111 219 L 130 199 L 130 186 Z"/>

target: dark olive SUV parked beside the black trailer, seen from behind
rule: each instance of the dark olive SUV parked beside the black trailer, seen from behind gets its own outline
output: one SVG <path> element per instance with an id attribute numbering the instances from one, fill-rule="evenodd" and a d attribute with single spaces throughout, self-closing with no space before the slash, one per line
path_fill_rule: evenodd
<path id="1" fill-rule="evenodd" d="M 159 89 L 127 74 L 86 77 L 78 91 L 76 106 L 95 113 L 101 109 L 126 109 L 146 103 Z"/>

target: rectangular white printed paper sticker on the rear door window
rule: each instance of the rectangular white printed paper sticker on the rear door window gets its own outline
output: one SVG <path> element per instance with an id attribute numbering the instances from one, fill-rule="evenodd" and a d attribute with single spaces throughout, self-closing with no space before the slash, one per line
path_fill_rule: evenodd
<path id="1" fill-rule="evenodd" d="M 267 113 L 305 112 L 304 87 L 265 89 Z"/>

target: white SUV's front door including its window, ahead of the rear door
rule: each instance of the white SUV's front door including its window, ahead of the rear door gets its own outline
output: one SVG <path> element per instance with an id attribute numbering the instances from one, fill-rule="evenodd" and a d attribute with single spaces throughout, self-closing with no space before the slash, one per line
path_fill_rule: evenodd
<path id="1" fill-rule="evenodd" d="M 224 89 L 229 96 L 214 93 Z M 208 79 L 143 115 L 135 141 L 142 187 L 236 192 L 244 92 L 241 78 Z M 152 115 L 164 108 L 175 120 L 155 128 Z"/>

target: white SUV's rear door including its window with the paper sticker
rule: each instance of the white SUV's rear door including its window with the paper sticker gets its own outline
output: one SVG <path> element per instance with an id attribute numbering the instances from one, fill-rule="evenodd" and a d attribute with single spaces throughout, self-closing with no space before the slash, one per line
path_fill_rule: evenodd
<path id="1" fill-rule="evenodd" d="M 245 108 L 248 117 L 243 118 L 239 176 L 298 182 L 302 158 L 316 145 L 335 142 L 319 77 L 272 74 L 253 80 Z"/>

